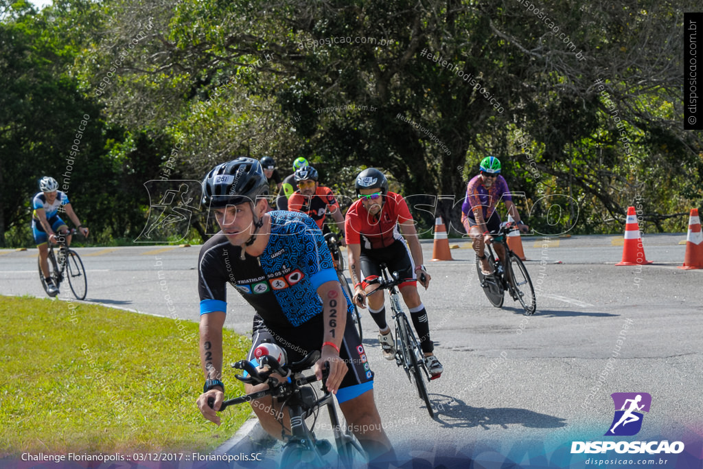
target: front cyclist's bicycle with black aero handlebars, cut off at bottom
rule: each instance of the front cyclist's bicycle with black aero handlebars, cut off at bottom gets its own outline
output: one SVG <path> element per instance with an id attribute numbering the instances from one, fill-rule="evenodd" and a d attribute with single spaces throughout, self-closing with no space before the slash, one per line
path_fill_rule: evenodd
<path id="1" fill-rule="evenodd" d="M 349 432 L 347 425 L 340 425 L 340 420 L 337 418 L 333 394 L 325 386 L 328 370 L 323 370 L 322 397 L 318 397 L 318 393 L 312 385 L 317 381 L 316 376 L 302 374 L 320 359 L 320 355 L 318 350 L 314 350 L 301 361 L 284 366 L 281 366 L 271 355 L 259 358 L 261 368 L 254 367 L 247 360 L 240 360 L 232 365 L 233 368 L 248 373 L 248 376 L 235 375 L 238 380 L 252 385 L 266 383 L 269 385 L 269 389 L 228 399 L 222 403 L 219 411 L 224 411 L 228 406 L 243 404 L 265 396 L 275 397 L 279 402 L 283 401 L 284 406 L 288 409 L 290 434 L 285 432 L 282 416 L 279 419 L 281 435 L 285 441 L 280 456 L 280 468 L 328 468 L 330 466 L 353 468 L 358 465 L 366 465 L 366 457 L 361 445 Z M 260 371 L 262 369 L 264 371 Z M 290 377 L 290 379 L 279 381 L 271 376 L 273 373 Z M 212 407 L 214 399 L 209 398 L 207 403 Z M 318 439 L 314 432 L 319 411 L 324 406 L 327 406 L 332 424 L 335 446 L 337 447 L 336 461 L 330 461 L 330 457 L 325 458 L 330 453 L 332 444 L 326 439 Z M 305 419 L 310 416 L 314 416 L 314 421 L 308 428 Z"/>

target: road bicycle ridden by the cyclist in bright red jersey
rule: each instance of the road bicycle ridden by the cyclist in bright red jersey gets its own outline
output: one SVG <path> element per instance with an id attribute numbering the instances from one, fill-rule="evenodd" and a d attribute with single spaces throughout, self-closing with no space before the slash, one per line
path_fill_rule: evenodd
<path id="1" fill-rule="evenodd" d="M 410 380 L 411 383 L 415 383 L 420 399 L 425 401 L 427 412 L 430 413 L 430 417 L 434 418 L 432 402 L 430 402 L 430 396 L 427 395 L 427 386 L 425 385 L 425 379 L 429 383 L 434 378 L 432 378 L 430 372 L 427 371 L 425 354 L 423 354 L 423 349 L 420 348 L 420 342 L 415 338 L 415 333 L 413 333 L 413 328 L 410 326 L 408 316 L 405 314 L 405 311 L 403 311 L 403 307 L 401 307 L 400 295 L 396 289 L 396 286 L 400 285 L 405 280 L 400 278 L 398 272 L 393 272 L 392 275 L 389 275 L 386 264 L 380 264 L 380 269 L 382 277 L 368 281 L 369 285 L 378 283 L 378 289 L 366 296 L 373 295 L 380 290 L 388 290 L 388 296 L 391 301 L 391 314 L 393 316 L 392 319 L 395 328 L 396 365 L 402 366 L 408 375 L 408 380 Z M 439 375 L 437 375 L 437 378 L 439 378 Z"/>

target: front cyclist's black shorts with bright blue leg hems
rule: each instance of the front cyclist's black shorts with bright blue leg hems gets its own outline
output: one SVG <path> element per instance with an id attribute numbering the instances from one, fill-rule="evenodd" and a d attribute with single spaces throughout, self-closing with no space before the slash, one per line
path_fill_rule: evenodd
<path id="1" fill-rule="evenodd" d="M 267 342 L 283 347 L 288 355 L 289 364 L 300 361 L 309 352 L 322 348 L 323 330 L 322 314 L 314 316 L 296 328 L 285 330 L 273 330 L 266 327 L 261 316 L 255 314 L 254 327 L 252 328 L 252 348 L 247 354 L 247 360 L 257 366 L 254 349 L 259 344 Z M 344 338 L 340 347 L 340 358 L 347 364 L 347 374 L 344 375 L 340 389 L 337 390 L 336 394 L 337 402 L 341 404 L 373 389 L 373 371 L 368 364 L 366 350 L 361 345 L 359 333 L 354 328 L 351 316 L 347 316 L 347 326 L 344 328 Z"/>

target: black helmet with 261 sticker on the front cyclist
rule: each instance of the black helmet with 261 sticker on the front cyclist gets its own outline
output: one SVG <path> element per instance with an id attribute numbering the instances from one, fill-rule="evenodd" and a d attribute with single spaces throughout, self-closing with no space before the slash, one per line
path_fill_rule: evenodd
<path id="1" fill-rule="evenodd" d="M 202 180 L 202 203 L 211 208 L 254 204 L 261 195 L 269 195 L 269 181 L 253 158 L 240 157 L 217 165 Z"/>

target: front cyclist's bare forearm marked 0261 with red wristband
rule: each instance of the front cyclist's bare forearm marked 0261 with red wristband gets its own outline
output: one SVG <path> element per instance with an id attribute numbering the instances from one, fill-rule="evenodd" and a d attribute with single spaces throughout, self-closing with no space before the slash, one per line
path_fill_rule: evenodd
<path id="1" fill-rule="evenodd" d="M 325 282 L 317 289 L 323 304 L 323 343 L 322 356 L 315 364 L 315 375 L 322 378 L 322 366 L 325 361 L 330 364 L 327 389 L 337 393 L 342 378 L 347 374 L 347 364 L 340 359 L 338 350 L 342 347 L 344 328 L 347 326 L 347 300 L 342 295 L 339 281 Z M 331 345 L 334 344 L 334 345 Z"/>

